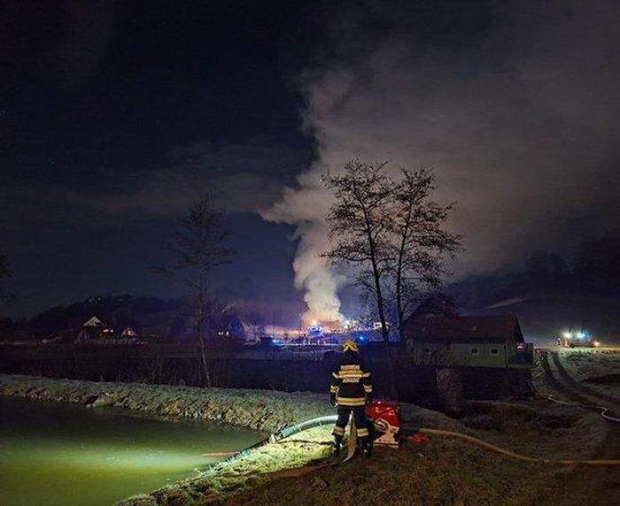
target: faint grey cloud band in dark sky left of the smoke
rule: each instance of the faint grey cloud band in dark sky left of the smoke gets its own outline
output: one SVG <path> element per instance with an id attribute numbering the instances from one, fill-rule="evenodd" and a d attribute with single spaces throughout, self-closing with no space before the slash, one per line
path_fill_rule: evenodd
<path id="1" fill-rule="evenodd" d="M 81 221 L 84 213 L 105 222 L 178 217 L 207 192 L 228 212 L 256 212 L 274 203 L 283 184 L 308 165 L 309 156 L 306 150 L 255 142 L 220 148 L 197 142 L 172 149 L 161 168 L 128 170 L 112 178 L 104 170 L 85 169 L 88 179 L 77 185 L 58 178 L 13 179 L 0 188 L 0 197 L 14 219 L 38 216 L 65 225 Z M 6 226 L 14 219 L 6 219 Z"/>

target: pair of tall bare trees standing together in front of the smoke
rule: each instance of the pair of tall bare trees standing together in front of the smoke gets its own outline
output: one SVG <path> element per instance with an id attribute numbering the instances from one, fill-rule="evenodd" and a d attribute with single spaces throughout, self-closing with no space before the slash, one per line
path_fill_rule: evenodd
<path id="1" fill-rule="evenodd" d="M 447 274 L 446 258 L 460 247 L 459 236 L 444 228 L 453 205 L 430 200 L 435 177 L 425 168 L 402 170 L 395 179 L 387 162 L 354 159 L 343 173 L 327 173 L 322 180 L 335 197 L 327 216 L 330 249 L 322 256 L 332 265 L 353 266 L 354 283 L 374 306 L 384 342 L 389 345 L 393 320 L 403 341 L 403 323 L 415 295 L 439 287 Z M 390 346 L 387 356 L 394 394 Z"/>

